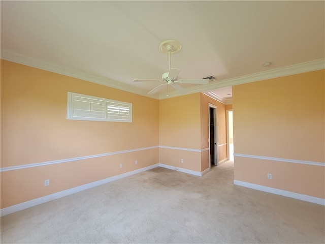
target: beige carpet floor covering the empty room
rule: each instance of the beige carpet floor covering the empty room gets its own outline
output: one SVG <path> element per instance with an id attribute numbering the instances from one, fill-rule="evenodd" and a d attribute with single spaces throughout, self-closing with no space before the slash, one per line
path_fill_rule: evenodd
<path id="1" fill-rule="evenodd" d="M 324 243 L 325 207 L 155 168 L 1 218 L 1 243 Z"/>

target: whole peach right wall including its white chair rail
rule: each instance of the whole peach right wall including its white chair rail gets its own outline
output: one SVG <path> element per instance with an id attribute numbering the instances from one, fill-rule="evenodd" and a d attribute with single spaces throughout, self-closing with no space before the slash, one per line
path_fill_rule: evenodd
<path id="1" fill-rule="evenodd" d="M 233 86 L 236 180 L 325 198 L 324 80 L 319 70 Z"/>

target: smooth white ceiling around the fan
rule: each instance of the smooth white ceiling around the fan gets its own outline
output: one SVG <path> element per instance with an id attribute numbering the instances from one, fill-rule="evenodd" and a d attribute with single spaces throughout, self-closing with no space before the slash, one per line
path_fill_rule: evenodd
<path id="1" fill-rule="evenodd" d="M 188 93 L 230 98 L 234 80 L 315 60 L 323 66 L 324 3 L 1 1 L 1 57 L 146 95 L 160 83 L 133 80 L 160 79 L 169 58 L 159 44 L 175 39 L 179 78 L 216 78 L 183 84 Z M 163 99 L 166 90 L 148 96 Z"/>

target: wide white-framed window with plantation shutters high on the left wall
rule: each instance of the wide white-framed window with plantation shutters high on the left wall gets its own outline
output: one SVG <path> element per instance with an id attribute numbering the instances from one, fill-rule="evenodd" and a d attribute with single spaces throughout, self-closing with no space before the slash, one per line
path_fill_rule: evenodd
<path id="1" fill-rule="evenodd" d="M 68 92 L 67 119 L 132 122 L 132 103 Z"/>

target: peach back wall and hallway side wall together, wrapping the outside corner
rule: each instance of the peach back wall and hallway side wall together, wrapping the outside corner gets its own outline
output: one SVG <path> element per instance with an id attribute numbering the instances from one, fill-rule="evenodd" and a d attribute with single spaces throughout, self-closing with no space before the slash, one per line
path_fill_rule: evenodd
<path id="1" fill-rule="evenodd" d="M 159 145 L 176 147 L 160 148 L 159 163 L 198 172 L 209 168 L 209 103 L 217 106 L 218 144 L 223 144 L 224 104 L 201 93 L 159 101 Z M 226 145 L 219 148 L 220 161 L 226 158 Z"/>

